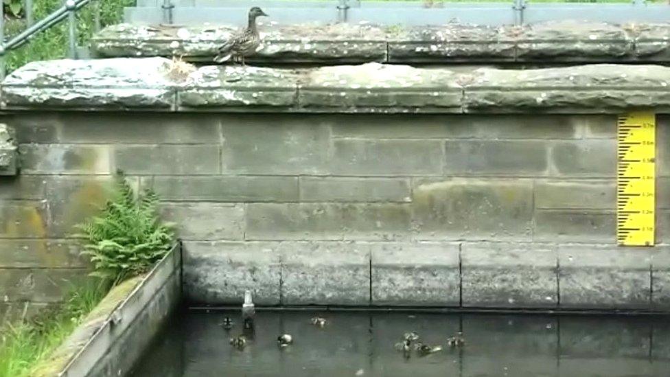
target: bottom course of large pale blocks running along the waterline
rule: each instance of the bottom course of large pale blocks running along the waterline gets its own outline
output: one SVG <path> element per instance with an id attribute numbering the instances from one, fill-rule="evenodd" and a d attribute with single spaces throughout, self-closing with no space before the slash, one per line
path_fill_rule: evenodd
<path id="1" fill-rule="evenodd" d="M 668 246 L 268 241 L 184 247 L 185 292 L 198 304 L 237 305 L 251 289 L 265 305 L 670 311 Z"/>

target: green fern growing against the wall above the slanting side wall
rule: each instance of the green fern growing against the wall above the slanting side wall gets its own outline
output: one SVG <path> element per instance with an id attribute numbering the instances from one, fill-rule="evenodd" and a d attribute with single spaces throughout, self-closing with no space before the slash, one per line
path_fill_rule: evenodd
<path id="1" fill-rule="evenodd" d="M 113 284 L 145 273 L 172 247 L 172 225 L 157 216 L 159 198 L 153 190 L 135 198 L 132 187 L 119 172 L 115 193 L 94 216 L 78 225 L 86 239 L 82 254 L 89 255 L 91 275 L 110 279 Z"/>

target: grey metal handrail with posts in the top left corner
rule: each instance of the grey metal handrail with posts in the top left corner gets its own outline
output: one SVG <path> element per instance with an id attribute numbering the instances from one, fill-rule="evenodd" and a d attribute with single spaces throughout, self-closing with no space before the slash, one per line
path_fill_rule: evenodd
<path id="1" fill-rule="evenodd" d="M 43 32 L 44 30 L 51 28 L 52 26 L 58 24 L 60 21 L 63 21 L 66 18 L 68 19 L 69 22 L 68 55 L 69 58 L 72 59 L 78 58 L 77 41 L 76 41 L 77 37 L 76 12 L 78 12 L 78 10 L 83 8 L 84 5 L 88 4 L 91 1 L 97 2 L 98 0 L 65 0 L 62 7 L 58 8 L 57 10 L 54 10 L 54 12 L 51 12 L 51 14 L 49 14 L 44 19 L 41 19 L 36 23 L 32 23 L 32 10 L 30 11 L 30 19 L 27 19 L 28 12 L 26 12 L 28 27 L 25 30 L 23 30 L 23 32 L 12 37 L 9 41 L 5 41 L 4 38 L 4 22 L 3 22 L 4 14 L 2 7 L 0 7 L 0 41 L 2 41 L 2 43 L 0 43 L 0 80 L 5 78 L 5 54 L 8 51 L 21 47 L 22 45 L 25 45 L 25 43 L 30 41 L 30 39 L 33 38 L 35 34 L 38 34 L 39 32 Z M 26 1 L 26 5 L 27 6 L 30 5 L 30 7 L 32 8 L 32 1 L 30 0 Z M 100 31 L 100 15 L 97 14 L 97 12 L 98 9 L 96 8 L 96 14 L 95 14 L 96 32 Z"/>

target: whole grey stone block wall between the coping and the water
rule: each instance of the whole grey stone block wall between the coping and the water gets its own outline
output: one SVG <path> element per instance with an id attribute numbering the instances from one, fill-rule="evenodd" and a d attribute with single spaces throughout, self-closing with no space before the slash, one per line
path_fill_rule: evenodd
<path id="1" fill-rule="evenodd" d="M 667 140 L 670 117 L 658 116 Z M 615 244 L 615 115 L 16 112 L 0 308 L 58 301 L 111 174 L 154 187 L 192 302 L 670 308 L 658 242 Z M 653 288 L 652 273 L 654 271 Z M 25 303 L 30 302 L 31 306 Z"/>

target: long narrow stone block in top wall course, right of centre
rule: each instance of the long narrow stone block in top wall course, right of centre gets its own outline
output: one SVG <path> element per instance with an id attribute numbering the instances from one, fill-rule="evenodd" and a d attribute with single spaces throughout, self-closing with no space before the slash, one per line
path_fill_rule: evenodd
<path id="1" fill-rule="evenodd" d="M 333 137 L 356 139 L 575 139 L 584 115 L 330 115 Z M 616 124 L 616 119 L 614 121 Z"/>

